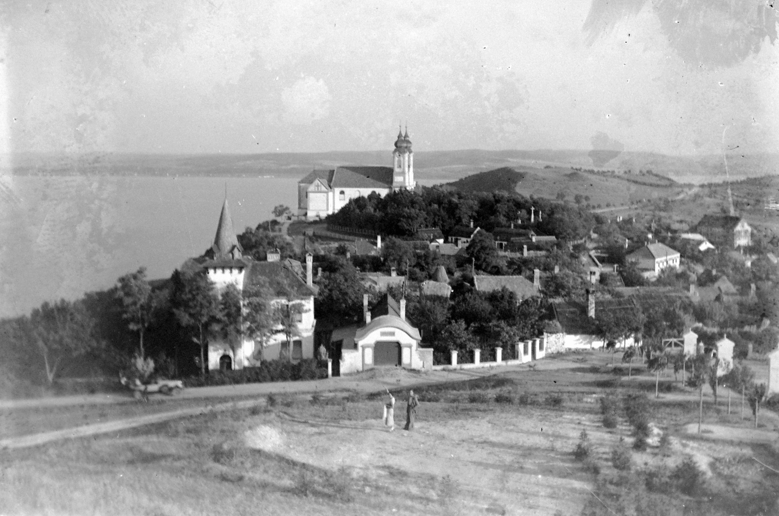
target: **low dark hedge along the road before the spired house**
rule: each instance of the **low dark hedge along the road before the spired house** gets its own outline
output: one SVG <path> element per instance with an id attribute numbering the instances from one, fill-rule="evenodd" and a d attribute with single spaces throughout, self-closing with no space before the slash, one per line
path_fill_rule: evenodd
<path id="1" fill-rule="evenodd" d="M 231 371 L 209 371 L 205 378 L 192 376 L 184 379 L 186 387 L 211 385 L 235 385 L 238 383 L 286 382 L 291 380 L 318 380 L 327 377 L 327 369 L 315 359 L 303 359 L 293 363 L 287 360 L 269 360 L 258 367 L 245 367 Z"/>

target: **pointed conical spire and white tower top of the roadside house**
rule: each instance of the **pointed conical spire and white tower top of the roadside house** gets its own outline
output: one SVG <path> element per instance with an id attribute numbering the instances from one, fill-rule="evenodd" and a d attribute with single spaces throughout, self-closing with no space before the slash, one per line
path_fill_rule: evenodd
<path id="1" fill-rule="evenodd" d="M 217 235 L 213 238 L 213 246 L 205 253 L 208 277 L 217 288 L 224 288 L 228 283 L 234 283 L 239 289 L 243 287 L 243 276 L 246 263 L 243 260 L 243 248 L 238 242 L 238 236 L 233 229 L 233 219 L 227 207 L 227 194 L 224 196 L 222 213 L 219 215 Z"/>

